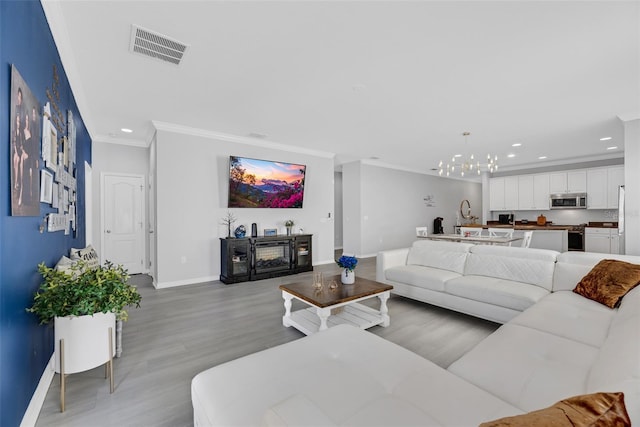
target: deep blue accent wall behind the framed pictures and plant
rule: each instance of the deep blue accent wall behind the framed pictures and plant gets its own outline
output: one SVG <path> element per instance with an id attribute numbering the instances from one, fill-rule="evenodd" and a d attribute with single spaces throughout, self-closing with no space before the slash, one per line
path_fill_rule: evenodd
<path id="1" fill-rule="evenodd" d="M 57 67 L 60 100 L 77 127 L 77 233 L 43 233 L 39 226 L 53 212 L 40 204 L 39 217 L 11 216 L 11 65 L 15 65 L 41 105 L 48 101 Z M 61 135 L 58 134 L 58 137 Z M 84 247 L 84 162 L 91 163 L 91 139 L 76 106 L 58 50 L 39 1 L 0 1 L 0 425 L 18 426 L 53 354 L 53 329 L 39 325 L 25 308 L 40 285 L 37 265 L 54 265 L 72 247 Z M 42 161 L 40 161 L 42 168 Z"/>

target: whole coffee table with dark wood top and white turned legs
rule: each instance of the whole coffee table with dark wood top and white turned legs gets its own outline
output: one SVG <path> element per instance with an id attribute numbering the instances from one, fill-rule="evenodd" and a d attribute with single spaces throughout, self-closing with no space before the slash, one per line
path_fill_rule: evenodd
<path id="1" fill-rule="evenodd" d="M 336 289 L 329 289 L 328 284 L 332 280 L 338 283 Z M 343 285 L 340 283 L 339 275 L 325 278 L 320 291 L 313 288 L 311 280 L 280 285 L 285 308 L 282 324 L 287 327 L 293 326 L 305 335 L 343 323 L 361 329 L 375 325 L 387 327 L 390 324 L 387 300 L 392 289 L 393 286 L 363 278 L 356 278 L 352 285 Z M 380 300 L 379 310 L 359 304 L 359 301 L 369 298 Z M 293 299 L 302 301 L 309 307 L 292 312 Z"/>

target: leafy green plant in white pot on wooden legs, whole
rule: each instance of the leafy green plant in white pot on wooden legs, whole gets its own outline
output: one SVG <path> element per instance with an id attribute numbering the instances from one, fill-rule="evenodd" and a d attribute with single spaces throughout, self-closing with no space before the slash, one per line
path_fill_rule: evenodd
<path id="1" fill-rule="evenodd" d="M 60 408 L 64 411 L 65 375 L 83 372 L 107 363 L 113 392 L 113 356 L 116 321 L 120 331 L 128 313 L 126 307 L 140 306 L 142 297 L 128 283 L 129 274 L 121 265 L 106 262 L 87 268 L 77 261 L 67 271 L 38 265 L 42 284 L 27 311 L 40 323 L 54 322 L 55 371 L 60 374 Z"/>

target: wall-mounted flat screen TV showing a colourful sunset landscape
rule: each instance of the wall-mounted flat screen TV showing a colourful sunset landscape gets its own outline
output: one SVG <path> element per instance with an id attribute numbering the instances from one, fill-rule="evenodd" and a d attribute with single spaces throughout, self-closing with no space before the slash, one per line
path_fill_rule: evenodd
<path id="1" fill-rule="evenodd" d="M 302 208 L 307 167 L 271 160 L 229 158 L 230 208 Z"/>

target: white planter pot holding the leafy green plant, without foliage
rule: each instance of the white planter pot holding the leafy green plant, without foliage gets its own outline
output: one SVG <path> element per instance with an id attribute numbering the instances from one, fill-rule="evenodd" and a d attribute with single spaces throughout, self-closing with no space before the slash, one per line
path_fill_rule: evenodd
<path id="1" fill-rule="evenodd" d="M 111 328 L 111 356 L 109 355 Z M 55 371 L 60 373 L 60 340 L 64 340 L 64 373 L 73 374 L 96 368 L 115 355 L 116 316 L 96 313 L 92 316 L 56 317 L 54 320 Z"/>

